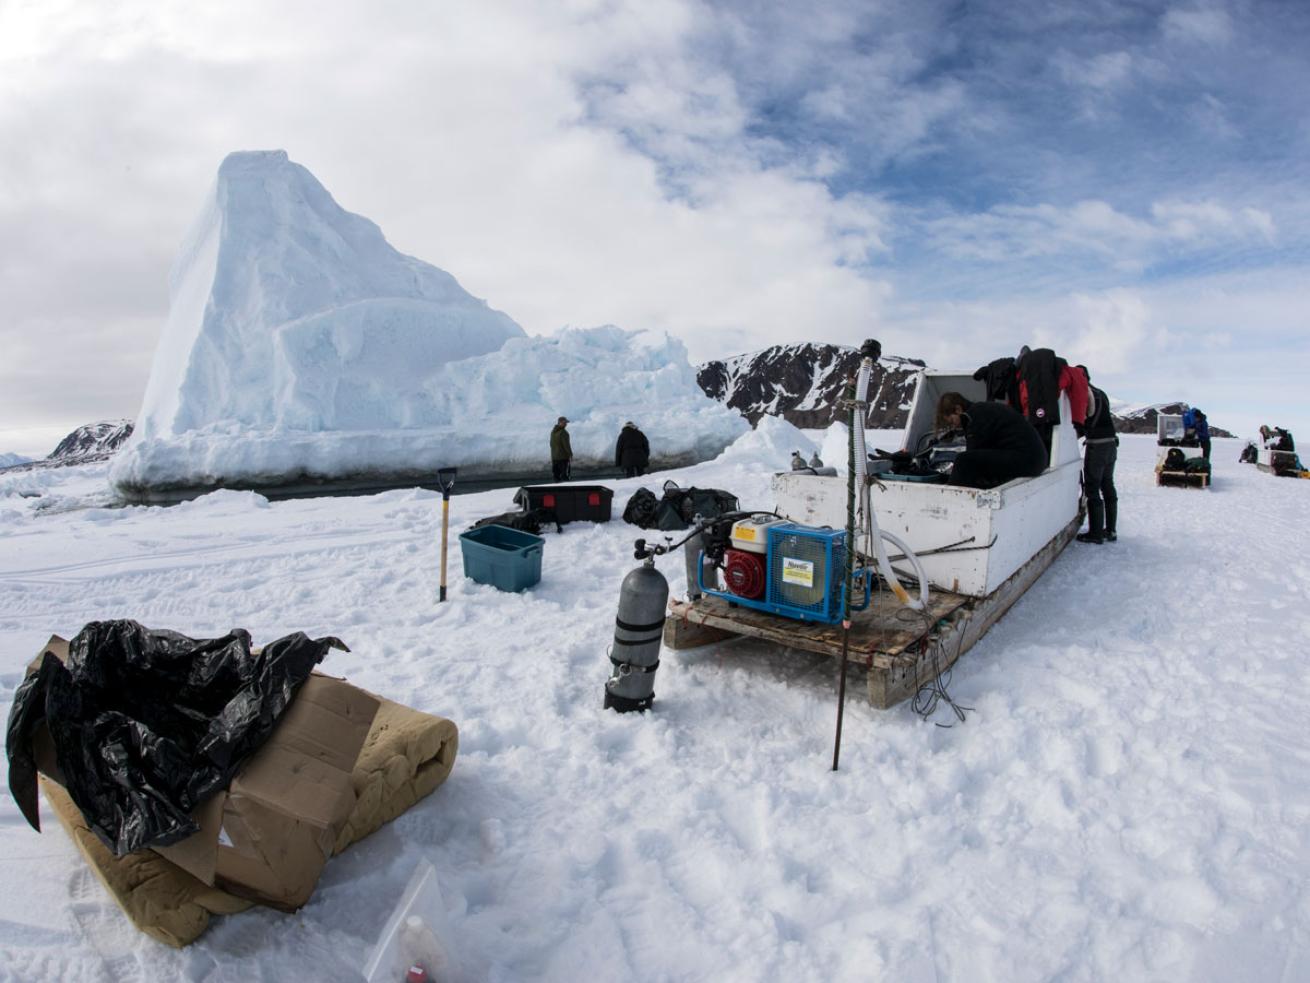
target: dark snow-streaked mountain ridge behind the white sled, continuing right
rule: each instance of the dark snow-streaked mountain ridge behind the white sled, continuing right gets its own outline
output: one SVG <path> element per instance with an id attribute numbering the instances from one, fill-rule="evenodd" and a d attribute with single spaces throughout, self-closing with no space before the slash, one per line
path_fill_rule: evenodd
<path id="1" fill-rule="evenodd" d="M 869 426 L 899 430 L 909 417 L 914 383 L 925 362 L 884 355 L 874 371 Z M 782 417 L 789 423 L 821 430 L 844 418 L 840 401 L 846 379 L 859 367 L 859 350 L 845 345 L 773 345 L 762 351 L 705 362 L 696 381 L 713 400 L 727 404 L 755 426 L 762 417 Z M 1182 413 L 1186 402 L 1162 402 L 1124 413 L 1111 410 L 1121 434 L 1154 434 L 1159 413 Z M 1210 425 L 1213 436 L 1233 436 Z"/>

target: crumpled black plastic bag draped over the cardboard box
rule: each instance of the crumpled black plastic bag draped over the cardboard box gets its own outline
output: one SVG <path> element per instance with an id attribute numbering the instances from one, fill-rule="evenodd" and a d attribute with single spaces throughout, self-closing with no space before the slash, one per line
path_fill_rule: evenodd
<path id="1" fill-rule="evenodd" d="M 191 811 L 267 741 L 337 638 L 288 634 L 250 650 L 250 634 L 187 638 L 136 621 L 92 621 L 68 663 L 46 653 L 14 693 L 9 790 L 33 828 L 33 738 L 45 721 L 68 796 L 115 855 L 168 845 L 199 827 Z"/>

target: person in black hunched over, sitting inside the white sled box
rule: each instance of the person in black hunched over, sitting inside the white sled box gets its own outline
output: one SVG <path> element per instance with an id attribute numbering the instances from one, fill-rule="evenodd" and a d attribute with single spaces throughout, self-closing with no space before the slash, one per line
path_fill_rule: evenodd
<path id="1" fill-rule="evenodd" d="M 958 392 L 943 393 L 937 426 L 964 429 L 965 450 L 955 457 L 951 485 L 996 488 L 1014 478 L 1035 478 L 1047 469 L 1041 436 L 1003 402 L 969 402 Z"/>

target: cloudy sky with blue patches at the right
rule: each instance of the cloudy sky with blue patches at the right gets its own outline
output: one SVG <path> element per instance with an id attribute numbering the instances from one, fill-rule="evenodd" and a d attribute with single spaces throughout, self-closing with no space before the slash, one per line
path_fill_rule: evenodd
<path id="1" fill-rule="evenodd" d="M 0 0 L 0 452 L 136 415 L 238 149 L 533 334 L 1048 346 L 1310 439 L 1307 51 L 1301 0 Z"/>

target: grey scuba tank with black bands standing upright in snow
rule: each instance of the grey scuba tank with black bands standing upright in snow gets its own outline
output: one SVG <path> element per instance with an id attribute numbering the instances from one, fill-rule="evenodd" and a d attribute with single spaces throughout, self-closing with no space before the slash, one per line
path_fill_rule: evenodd
<path id="1" fill-rule="evenodd" d="M 605 709 L 648 710 L 654 703 L 667 606 L 668 581 L 655 569 L 655 558 L 647 557 L 618 588 L 614 646 L 609 651 L 614 671 L 605 680 Z"/>

